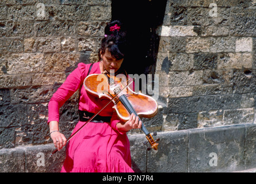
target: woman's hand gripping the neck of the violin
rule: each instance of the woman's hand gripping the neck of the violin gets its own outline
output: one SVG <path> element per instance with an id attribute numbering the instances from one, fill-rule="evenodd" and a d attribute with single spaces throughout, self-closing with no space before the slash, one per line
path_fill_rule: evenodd
<path id="1" fill-rule="evenodd" d="M 139 117 L 136 117 L 135 114 L 131 114 L 129 120 L 125 124 L 118 123 L 117 128 L 120 131 L 129 131 L 131 129 L 142 128 L 142 121 L 139 121 Z"/>

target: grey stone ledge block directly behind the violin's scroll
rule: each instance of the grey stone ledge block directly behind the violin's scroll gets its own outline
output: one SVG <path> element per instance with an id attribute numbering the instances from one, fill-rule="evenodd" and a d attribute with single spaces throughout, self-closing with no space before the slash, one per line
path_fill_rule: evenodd
<path id="1" fill-rule="evenodd" d="M 188 171 L 188 133 L 159 132 L 158 150 L 148 152 L 149 173 L 185 173 Z"/>

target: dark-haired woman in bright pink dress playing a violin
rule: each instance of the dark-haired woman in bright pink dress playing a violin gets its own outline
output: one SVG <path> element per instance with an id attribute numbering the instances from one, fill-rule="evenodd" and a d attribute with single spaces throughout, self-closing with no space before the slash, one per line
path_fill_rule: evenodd
<path id="1" fill-rule="evenodd" d="M 106 104 L 105 100 L 87 93 L 83 87 L 86 76 L 110 70 L 114 70 L 115 74 L 124 73 L 121 66 L 126 51 L 127 41 L 123 26 L 119 21 L 109 22 L 101 42 L 100 61 L 94 64 L 79 63 L 52 96 L 48 105 L 48 124 L 51 139 L 58 151 L 67 144 L 66 137 L 59 132 L 59 108 L 75 91 L 80 90 L 80 120 L 74 128 L 74 132 L 77 131 Z M 121 122 L 112 106 L 113 104 L 108 105 L 68 141 L 61 172 L 133 172 L 126 132 L 141 128 L 142 122 L 134 114 L 128 121 Z"/>

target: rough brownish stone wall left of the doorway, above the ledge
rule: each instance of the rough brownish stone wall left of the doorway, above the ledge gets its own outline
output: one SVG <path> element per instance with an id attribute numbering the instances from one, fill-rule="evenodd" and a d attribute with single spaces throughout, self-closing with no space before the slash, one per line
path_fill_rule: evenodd
<path id="1" fill-rule="evenodd" d="M 48 102 L 79 62 L 98 59 L 110 1 L 0 2 L 0 148 L 51 143 Z M 61 110 L 77 122 L 77 94 Z"/>

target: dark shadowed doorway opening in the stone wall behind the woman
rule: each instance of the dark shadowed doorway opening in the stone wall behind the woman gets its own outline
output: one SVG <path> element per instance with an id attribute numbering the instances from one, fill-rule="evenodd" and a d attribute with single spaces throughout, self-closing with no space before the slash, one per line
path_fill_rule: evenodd
<path id="1" fill-rule="evenodd" d="M 128 74 L 154 74 L 159 36 L 167 0 L 112 0 L 112 20 L 127 26 L 129 54 L 125 58 Z"/>

